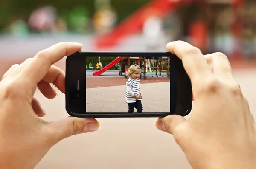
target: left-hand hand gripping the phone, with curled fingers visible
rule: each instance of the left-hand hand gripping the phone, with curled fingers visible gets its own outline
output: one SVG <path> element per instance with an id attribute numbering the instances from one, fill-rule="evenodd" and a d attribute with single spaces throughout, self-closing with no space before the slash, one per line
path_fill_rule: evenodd
<path id="1" fill-rule="evenodd" d="M 45 121 L 39 118 L 45 113 L 34 98 L 37 87 L 45 97 L 54 98 L 56 93 L 50 83 L 65 93 L 65 74 L 52 64 L 80 51 L 81 47 L 79 43 L 58 43 L 20 65 L 13 65 L 3 76 L 0 82 L 1 168 L 32 169 L 62 139 L 99 129 L 94 118 Z"/>

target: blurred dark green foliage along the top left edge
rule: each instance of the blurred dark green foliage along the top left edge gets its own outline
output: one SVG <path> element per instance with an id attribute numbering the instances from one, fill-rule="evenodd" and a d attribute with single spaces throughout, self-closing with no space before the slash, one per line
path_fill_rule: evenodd
<path id="1" fill-rule="evenodd" d="M 117 12 L 117 20 L 120 22 L 149 1 L 122 0 L 122 3 L 120 3 L 120 0 L 111 0 L 111 6 Z M 72 15 L 73 8 L 79 7 L 86 9 L 86 15 L 90 18 L 95 13 L 94 0 L 1 0 L 0 31 L 6 28 L 14 19 L 22 18 L 24 21 L 27 21 L 31 12 L 35 8 L 43 5 L 54 6 L 58 11 L 59 17 L 64 19 L 69 27 L 70 15 Z"/>

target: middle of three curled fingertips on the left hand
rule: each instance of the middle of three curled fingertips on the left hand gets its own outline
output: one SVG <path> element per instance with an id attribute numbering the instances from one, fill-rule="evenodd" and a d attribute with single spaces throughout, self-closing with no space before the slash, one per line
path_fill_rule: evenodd
<path id="1" fill-rule="evenodd" d="M 57 96 L 57 93 L 55 90 L 52 88 L 52 86 L 43 80 L 41 80 L 38 83 L 38 89 L 41 91 L 41 93 L 44 95 L 44 97 L 48 99 L 53 99 Z"/>

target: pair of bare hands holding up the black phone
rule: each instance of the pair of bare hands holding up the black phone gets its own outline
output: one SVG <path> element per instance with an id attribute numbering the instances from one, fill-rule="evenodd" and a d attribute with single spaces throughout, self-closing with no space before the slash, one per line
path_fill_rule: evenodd
<path id="1" fill-rule="evenodd" d="M 13 65 L 0 82 L 0 166 L 32 169 L 49 149 L 71 135 L 99 130 L 94 118 L 67 117 L 45 121 L 38 88 L 49 99 L 65 93 L 65 74 L 52 64 L 81 50 L 81 44 L 61 42 Z M 173 135 L 194 169 L 254 169 L 256 135 L 254 119 L 230 63 L 222 53 L 203 55 L 182 41 L 171 42 L 193 86 L 193 109 L 188 120 L 169 115 L 155 122 L 157 129 Z M 172 153 L 170 151 L 170 153 Z"/>

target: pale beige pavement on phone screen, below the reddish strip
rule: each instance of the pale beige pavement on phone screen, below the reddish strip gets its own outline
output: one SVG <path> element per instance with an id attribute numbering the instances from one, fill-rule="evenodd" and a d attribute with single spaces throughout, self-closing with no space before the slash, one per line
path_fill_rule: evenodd
<path id="1" fill-rule="evenodd" d="M 170 111 L 170 82 L 142 84 L 140 88 L 143 112 Z M 126 85 L 86 89 L 86 111 L 128 112 L 125 93 Z"/>

